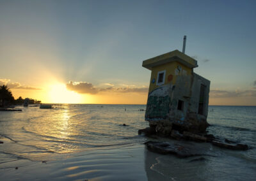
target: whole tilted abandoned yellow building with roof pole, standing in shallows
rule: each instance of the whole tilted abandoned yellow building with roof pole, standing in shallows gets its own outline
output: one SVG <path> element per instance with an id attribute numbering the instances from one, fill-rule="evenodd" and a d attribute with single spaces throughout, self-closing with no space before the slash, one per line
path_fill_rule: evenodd
<path id="1" fill-rule="evenodd" d="M 204 132 L 207 124 L 210 81 L 194 73 L 197 61 L 174 50 L 143 61 L 150 69 L 145 120 L 150 127 L 163 134 L 172 128 L 191 133 Z"/>

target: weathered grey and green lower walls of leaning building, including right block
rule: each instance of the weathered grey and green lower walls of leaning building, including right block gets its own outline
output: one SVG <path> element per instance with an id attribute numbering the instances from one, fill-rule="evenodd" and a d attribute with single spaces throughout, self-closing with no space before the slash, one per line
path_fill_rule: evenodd
<path id="1" fill-rule="evenodd" d="M 204 113 L 202 115 L 198 114 L 201 84 L 206 87 Z M 191 132 L 205 131 L 208 125 L 206 118 L 209 87 L 210 81 L 195 73 L 193 73 L 193 76 L 177 75 L 175 85 L 168 83 L 148 94 L 145 120 L 150 121 L 151 126 L 166 125 L 161 124 L 159 120 L 168 120 Z M 177 109 L 179 100 L 184 103 L 181 110 Z M 158 126 L 158 129 L 162 130 L 161 126 Z M 170 129 L 172 129 L 172 126 L 170 126 Z"/>

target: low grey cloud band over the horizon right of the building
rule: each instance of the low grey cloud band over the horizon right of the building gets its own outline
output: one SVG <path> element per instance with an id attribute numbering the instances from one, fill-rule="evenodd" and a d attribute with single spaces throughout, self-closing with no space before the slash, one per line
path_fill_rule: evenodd
<path id="1" fill-rule="evenodd" d="M 219 91 L 211 90 L 211 98 L 237 98 L 237 97 L 256 97 L 256 91 Z"/>

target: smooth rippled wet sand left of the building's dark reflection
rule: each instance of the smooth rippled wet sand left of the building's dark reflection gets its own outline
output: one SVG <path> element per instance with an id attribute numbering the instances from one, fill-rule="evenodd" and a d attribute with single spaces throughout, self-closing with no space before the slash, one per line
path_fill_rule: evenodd
<path id="1" fill-rule="evenodd" d="M 56 161 L 18 159 L 0 166 L 0 180 L 147 180 L 144 145 L 66 154 Z"/>

